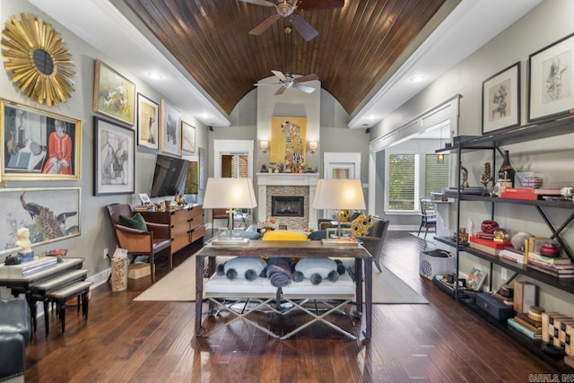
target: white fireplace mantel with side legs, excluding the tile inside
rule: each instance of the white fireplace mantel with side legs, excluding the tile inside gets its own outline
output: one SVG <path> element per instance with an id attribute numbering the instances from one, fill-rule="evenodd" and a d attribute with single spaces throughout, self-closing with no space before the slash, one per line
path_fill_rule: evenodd
<path id="1" fill-rule="evenodd" d="M 265 222 L 268 216 L 265 204 L 267 187 L 309 187 L 309 228 L 317 229 L 317 210 L 311 206 L 317 189 L 318 173 L 257 173 L 257 220 Z"/>

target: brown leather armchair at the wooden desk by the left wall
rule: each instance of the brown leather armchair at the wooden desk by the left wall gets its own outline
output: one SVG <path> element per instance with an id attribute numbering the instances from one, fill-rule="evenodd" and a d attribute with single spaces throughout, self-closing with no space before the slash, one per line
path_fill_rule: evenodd
<path id="1" fill-rule="evenodd" d="M 148 256 L 152 272 L 152 282 L 155 281 L 155 257 L 161 251 L 168 253 L 168 268 L 173 267 L 171 257 L 170 225 L 165 223 L 145 222 L 147 231 L 132 229 L 118 223 L 119 216 L 131 218 L 134 213 L 127 204 L 108 205 L 109 222 L 116 235 L 117 246 L 125 248 L 127 254 L 132 256 L 132 262 L 137 256 Z"/>

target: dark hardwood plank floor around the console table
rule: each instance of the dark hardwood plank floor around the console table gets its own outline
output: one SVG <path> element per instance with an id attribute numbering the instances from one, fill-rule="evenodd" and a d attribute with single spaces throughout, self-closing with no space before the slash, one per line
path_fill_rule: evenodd
<path id="1" fill-rule="evenodd" d="M 130 281 L 126 292 L 111 292 L 109 285 L 94 289 L 88 321 L 68 309 L 65 335 L 55 316 L 48 338 L 39 325 L 26 350 L 25 379 L 491 383 L 527 382 L 529 374 L 558 372 L 419 276 L 423 246 L 407 232 L 388 232 L 382 263 L 430 304 L 374 305 L 369 343 L 320 323 L 283 341 L 241 323 L 196 338 L 194 303 L 133 301 L 151 284 L 143 278 Z M 197 249 L 192 245 L 176 254 L 175 265 Z M 158 276 L 166 271 L 159 265 Z M 354 334 L 361 329 L 361 321 L 337 320 Z"/>

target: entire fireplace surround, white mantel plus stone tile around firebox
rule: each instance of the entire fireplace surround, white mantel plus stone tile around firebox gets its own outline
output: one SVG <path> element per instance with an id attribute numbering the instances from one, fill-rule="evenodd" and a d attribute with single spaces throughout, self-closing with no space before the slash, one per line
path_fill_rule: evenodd
<path id="1" fill-rule="evenodd" d="M 271 216 L 271 196 L 304 196 L 305 217 L 281 217 L 288 229 L 317 230 L 317 210 L 311 206 L 317 189 L 318 173 L 257 173 L 257 221 Z"/>

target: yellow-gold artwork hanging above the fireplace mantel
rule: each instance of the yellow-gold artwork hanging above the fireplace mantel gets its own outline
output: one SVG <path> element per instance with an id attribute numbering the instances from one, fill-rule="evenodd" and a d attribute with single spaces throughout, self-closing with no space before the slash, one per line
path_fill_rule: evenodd
<path id="1" fill-rule="evenodd" d="M 271 151 L 269 161 L 293 164 L 306 162 L 307 118 L 271 118 Z"/>

